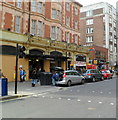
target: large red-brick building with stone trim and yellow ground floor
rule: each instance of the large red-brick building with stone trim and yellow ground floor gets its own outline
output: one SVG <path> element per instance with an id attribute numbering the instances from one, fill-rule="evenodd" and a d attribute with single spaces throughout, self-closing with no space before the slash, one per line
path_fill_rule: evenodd
<path id="1" fill-rule="evenodd" d="M 78 46 L 80 7 L 82 5 L 74 0 L 0 1 L 3 66 L 0 67 L 10 81 L 15 73 L 16 43 L 26 48 L 26 57 L 19 58 L 18 67 L 26 70 L 27 79 L 34 67 L 41 67 L 46 72 L 54 66 L 67 69 L 70 63 L 76 63 L 76 55 L 88 56 L 87 50 L 80 51 Z"/>

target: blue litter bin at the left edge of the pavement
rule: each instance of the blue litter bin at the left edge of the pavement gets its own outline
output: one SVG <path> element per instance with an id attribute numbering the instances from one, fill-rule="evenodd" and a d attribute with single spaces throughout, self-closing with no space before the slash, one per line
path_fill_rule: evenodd
<path id="1" fill-rule="evenodd" d="M 2 96 L 8 95 L 8 79 L 0 78 L 0 83 L 1 83 L 1 95 Z"/>

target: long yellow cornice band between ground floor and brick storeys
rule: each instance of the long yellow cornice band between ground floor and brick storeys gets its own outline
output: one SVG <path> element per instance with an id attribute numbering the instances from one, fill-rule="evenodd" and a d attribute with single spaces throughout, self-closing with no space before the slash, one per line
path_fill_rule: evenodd
<path id="1" fill-rule="evenodd" d="M 2 36 L 0 36 L 0 41 L 9 42 L 9 43 L 19 43 L 27 46 L 37 46 L 43 48 L 57 49 L 57 50 L 66 50 L 67 52 L 77 52 L 89 54 L 88 47 L 78 46 L 72 43 L 65 43 L 56 40 L 45 39 L 37 36 L 23 35 L 19 33 L 13 33 L 9 31 L 2 31 Z"/>

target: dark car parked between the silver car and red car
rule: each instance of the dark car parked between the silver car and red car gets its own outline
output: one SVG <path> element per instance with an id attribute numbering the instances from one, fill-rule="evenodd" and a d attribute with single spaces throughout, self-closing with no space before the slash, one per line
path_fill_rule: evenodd
<path id="1" fill-rule="evenodd" d="M 83 76 L 85 77 L 85 80 L 87 82 L 96 82 L 98 80 L 104 80 L 103 74 L 97 69 L 88 69 L 85 71 L 85 73 L 83 73 Z"/>

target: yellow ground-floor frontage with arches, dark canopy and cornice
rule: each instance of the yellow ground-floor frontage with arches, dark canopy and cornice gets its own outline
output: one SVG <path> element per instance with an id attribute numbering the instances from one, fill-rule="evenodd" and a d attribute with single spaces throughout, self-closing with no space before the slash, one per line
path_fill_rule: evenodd
<path id="1" fill-rule="evenodd" d="M 14 39 L 12 38 L 14 36 Z M 69 69 L 76 62 L 76 55 L 83 54 L 86 61 L 89 61 L 88 48 L 83 49 L 77 45 L 65 42 L 52 41 L 50 39 L 31 38 L 28 41 L 26 35 L 3 32 L 2 44 L 0 45 L 1 66 L 4 75 L 8 81 L 15 80 L 16 72 L 16 44 L 26 48 L 25 56 L 18 58 L 18 80 L 20 79 L 20 70 L 22 67 L 26 71 L 26 80 L 30 79 L 34 68 L 41 68 L 42 71 L 52 72 L 53 67 L 61 67 L 64 70 Z"/>

